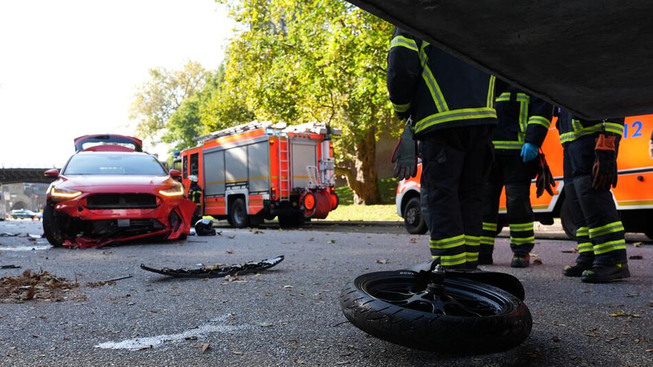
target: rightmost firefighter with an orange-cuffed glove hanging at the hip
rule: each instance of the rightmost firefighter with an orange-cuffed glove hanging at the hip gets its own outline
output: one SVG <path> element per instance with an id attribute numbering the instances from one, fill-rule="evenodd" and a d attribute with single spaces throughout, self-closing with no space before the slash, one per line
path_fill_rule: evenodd
<path id="1" fill-rule="evenodd" d="M 617 187 L 617 153 L 623 118 L 582 120 L 558 113 L 563 146 L 565 201 L 577 227 L 578 257 L 565 276 L 601 283 L 629 278 L 623 224 L 610 186 Z"/>

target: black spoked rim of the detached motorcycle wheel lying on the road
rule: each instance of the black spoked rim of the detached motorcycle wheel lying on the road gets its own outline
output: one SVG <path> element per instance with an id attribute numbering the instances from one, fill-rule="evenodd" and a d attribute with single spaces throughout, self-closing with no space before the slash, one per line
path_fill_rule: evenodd
<path id="1" fill-rule="evenodd" d="M 364 280 L 360 288 L 395 306 L 439 315 L 483 318 L 514 309 L 513 300 L 478 282 L 445 278 L 442 298 L 426 290 L 428 282 L 428 276 L 394 273 Z"/>

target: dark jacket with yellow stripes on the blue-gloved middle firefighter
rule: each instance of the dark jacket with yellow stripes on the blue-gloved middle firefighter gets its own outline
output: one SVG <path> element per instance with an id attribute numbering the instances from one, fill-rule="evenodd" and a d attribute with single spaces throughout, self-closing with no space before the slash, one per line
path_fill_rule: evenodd
<path id="1" fill-rule="evenodd" d="M 551 126 L 552 104 L 510 86 L 496 98 L 494 108 L 498 126 L 492 142 L 497 153 L 519 154 L 524 143 L 542 146 Z"/>

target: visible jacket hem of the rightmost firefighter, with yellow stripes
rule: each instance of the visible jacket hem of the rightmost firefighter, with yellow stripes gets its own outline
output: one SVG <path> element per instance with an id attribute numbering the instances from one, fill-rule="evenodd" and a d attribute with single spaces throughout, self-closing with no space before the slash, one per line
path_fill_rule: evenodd
<path id="1" fill-rule="evenodd" d="M 565 144 L 579 137 L 595 133 L 607 135 L 623 135 L 624 118 L 608 118 L 606 120 L 582 120 L 564 109 L 557 110 L 556 127 L 560 131 L 560 143 Z"/>

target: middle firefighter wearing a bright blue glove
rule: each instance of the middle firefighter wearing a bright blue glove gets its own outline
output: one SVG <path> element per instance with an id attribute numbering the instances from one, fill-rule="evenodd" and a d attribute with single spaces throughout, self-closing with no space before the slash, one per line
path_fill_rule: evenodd
<path id="1" fill-rule="evenodd" d="M 496 99 L 498 126 L 494 131 L 494 164 L 485 187 L 483 235 L 479 264 L 491 264 L 496 237 L 499 197 L 505 186 L 510 226 L 511 267 L 527 267 L 535 245 L 531 179 L 538 170 L 540 146 L 551 125 L 553 105 L 509 87 Z"/>

